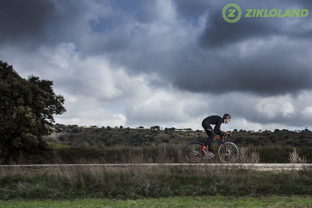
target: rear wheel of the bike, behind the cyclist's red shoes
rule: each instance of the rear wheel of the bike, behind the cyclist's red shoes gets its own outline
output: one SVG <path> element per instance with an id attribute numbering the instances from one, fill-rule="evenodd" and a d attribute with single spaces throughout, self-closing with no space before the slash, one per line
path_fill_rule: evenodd
<path id="1" fill-rule="evenodd" d="M 202 151 L 202 143 L 200 142 L 189 143 L 184 150 L 184 155 L 187 161 L 192 163 L 202 162 L 204 159 L 207 159 Z"/>

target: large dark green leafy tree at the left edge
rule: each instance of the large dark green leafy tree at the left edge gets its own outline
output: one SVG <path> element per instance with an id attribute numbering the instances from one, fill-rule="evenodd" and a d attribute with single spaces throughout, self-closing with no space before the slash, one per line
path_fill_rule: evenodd
<path id="1" fill-rule="evenodd" d="M 0 60 L 0 157 L 45 148 L 42 136 L 50 133 L 53 115 L 66 111 L 63 96 L 56 95 L 52 85 L 33 75 L 23 79 Z"/>

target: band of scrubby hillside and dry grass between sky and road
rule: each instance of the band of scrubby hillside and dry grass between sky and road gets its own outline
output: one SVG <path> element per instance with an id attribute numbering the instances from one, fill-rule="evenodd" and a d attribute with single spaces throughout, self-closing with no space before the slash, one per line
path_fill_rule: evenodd
<path id="1" fill-rule="evenodd" d="M 9 163 L 186 163 L 185 146 L 192 141 L 202 141 L 202 137 L 192 129 L 162 129 L 158 126 L 135 129 L 122 126 L 99 128 L 56 124 L 53 126 L 53 133 L 44 140 L 50 143 L 46 151 L 34 155 L 22 153 L 17 161 Z M 312 161 L 312 133 L 308 129 L 300 132 L 286 129 L 275 129 L 273 132 L 234 129 L 232 137 L 225 140 L 236 143 L 241 153 L 244 152 L 245 159 L 236 162 L 296 163 L 290 162 L 290 153 L 294 148 L 298 153 L 297 162 Z M 215 139 L 214 144 L 218 141 Z M 248 156 L 256 160 L 249 160 Z M 207 162 L 220 163 L 220 160 L 214 158 Z"/>

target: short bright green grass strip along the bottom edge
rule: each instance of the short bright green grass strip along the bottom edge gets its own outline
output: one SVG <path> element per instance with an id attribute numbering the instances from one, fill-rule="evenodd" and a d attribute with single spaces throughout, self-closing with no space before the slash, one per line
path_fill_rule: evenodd
<path id="1" fill-rule="evenodd" d="M 307 207 L 310 196 L 171 197 L 139 200 L 88 199 L 75 201 L 1 201 L 0 207 Z"/>

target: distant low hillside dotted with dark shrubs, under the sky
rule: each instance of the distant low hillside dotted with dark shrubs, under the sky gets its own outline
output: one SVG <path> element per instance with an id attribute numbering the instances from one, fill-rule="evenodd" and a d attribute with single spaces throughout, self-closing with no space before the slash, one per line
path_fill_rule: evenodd
<path id="1" fill-rule="evenodd" d="M 151 129 L 152 128 L 152 129 Z M 71 146 L 114 146 L 114 145 L 150 145 L 160 143 L 189 143 L 191 141 L 202 141 L 200 133 L 192 129 L 164 128 L 159 126 L 139 128 L 120 127 L 78 127 L 77 125 L 53 125 L 53 133 L 44 137 L 46 142 L 66 144 Z M 271 131 L 246 131 L 234 129 L 233 136 L 226 140 L 232 141 L 240 146 L 312 146 L 312 133 L 308 129 L 300 132 L 288 131 L 287 129 L 275 129 Z M 206 134 L 204 134 L 206 136 Z"/>

